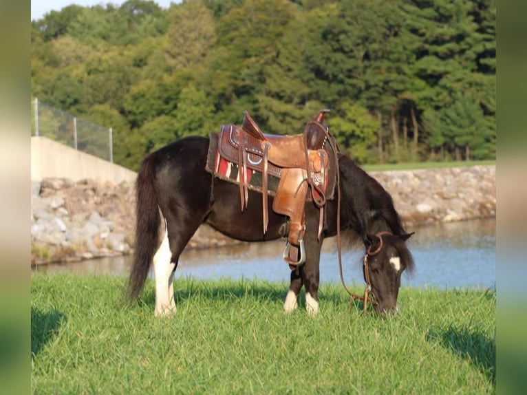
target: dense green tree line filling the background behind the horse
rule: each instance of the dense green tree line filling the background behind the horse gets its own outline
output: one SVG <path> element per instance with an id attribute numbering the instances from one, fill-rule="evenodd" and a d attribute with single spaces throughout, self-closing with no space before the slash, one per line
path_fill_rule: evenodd
<path id="1" fill-rule="evenodd" d="M 495 158 L 495 0 L 186 0 L 32 21 L 32 95 L 112 127 L 114 161 L 319 109 L 361 163 Z"/>

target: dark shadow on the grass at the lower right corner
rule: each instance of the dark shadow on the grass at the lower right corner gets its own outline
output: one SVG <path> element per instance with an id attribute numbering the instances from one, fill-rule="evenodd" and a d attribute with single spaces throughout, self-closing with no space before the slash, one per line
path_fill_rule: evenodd
<path id="1" fill-rule="evenodd" d="M 429 330 L 428 341 L 437 341 L 462 359 L 469 360 L 496 386 L 496 342 L 469 328 Z"/>

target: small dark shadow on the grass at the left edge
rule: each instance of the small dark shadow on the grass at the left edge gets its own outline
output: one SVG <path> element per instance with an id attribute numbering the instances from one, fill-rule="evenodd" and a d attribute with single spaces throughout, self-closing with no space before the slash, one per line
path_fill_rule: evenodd
<path id="1" fill-rule="evenodd" d="M 31 308 L 31 353 L 36 355 L 52 341 L 66 316 L 57 311 Z"/>

